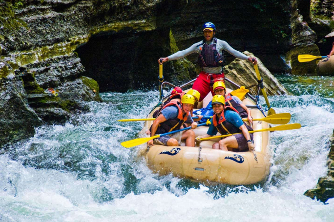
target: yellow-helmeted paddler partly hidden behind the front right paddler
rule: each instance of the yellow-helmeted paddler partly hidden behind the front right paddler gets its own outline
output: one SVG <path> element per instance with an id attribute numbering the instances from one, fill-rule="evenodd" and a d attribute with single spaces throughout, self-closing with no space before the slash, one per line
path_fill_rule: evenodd
<path id="1" fill-rule="evenodd" d="M 250 123 L 253 122 L 253 118 L 250 114 L 250 109 L 236 96 L 232 96 L 230 93 L 226 93 L 226 87 L 224 82 L 216 81 L 213 84 L 213 91 L 215 95 L 221 95 L 225 97 L 225 105 L 231 106 L 236 109 L 241 118 L 247 118 Z"/>

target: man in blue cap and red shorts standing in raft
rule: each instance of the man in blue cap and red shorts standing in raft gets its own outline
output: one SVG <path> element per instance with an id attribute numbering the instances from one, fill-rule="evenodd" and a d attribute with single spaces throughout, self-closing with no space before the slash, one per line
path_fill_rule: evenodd
<path id="1" fill-rule="evenodd" d="M 225 81 L 222 66 L 224 63 L 223 50 L 229 52 L 231 55 L 241 59 L 248 60 L 256 64 L 256 59 L 242 54 L 233 49 L 226 41 L 213 38 L 216 33 L 216 26 L 212 22 L 207 22 L 203 25 L 204 40 L 191 45 L 188 49 L 178 51 L 166 58 L 160 58 L 162 63 L 169 60 L 177 60 L 188 56 L 191 53 L 198 53 L 197 59 L 199 65 L 202 67 L 202 72 L 194 82 L 192 88 L 201 94 L 199 101 L 202 101 L 211 91 L 214 95 L 212 86 L 216 81 Z M 254 60 L 254 61 L 252 61 Z"/>

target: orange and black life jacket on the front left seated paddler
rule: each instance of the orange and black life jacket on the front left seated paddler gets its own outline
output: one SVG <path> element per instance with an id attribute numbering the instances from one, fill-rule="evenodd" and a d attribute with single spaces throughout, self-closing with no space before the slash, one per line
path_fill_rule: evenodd
<path id="1" fill-rule="evenodd" d="M 167 132 L 171 132 L 171 131 L 174 131 L 174 130 L 178 130 L 178 129 L 181 128 L 183 123 L 188 120 L 188 115 L 190 115 L 190 112 L 182 114 L 182 109 L 181 109 L 179 104 L 180 103 L 178 103 L 177 101 L 171 101 L 171 102 L 167 103 L 162 108 L 162 110 L 163 110 L 168 106 L 174 105 L 178 108 L 178 114 L 177 114 L 177 117 L 175 119 L 169 119 L 167 121 L 164 121 L 164 122 L 160 123 L 159 126 L 158 126 L 157 131 L 155 132 L 155 134 L 162 134 L 162 133 L 167 133 Z M 160 114 L 161 114 L 161 112 L 160 112 Z M 151 128 L 152 128 L 152 126 L 151 126 Z M 151 128 L 150 128 L 150 131 L 152 130 Z"/>

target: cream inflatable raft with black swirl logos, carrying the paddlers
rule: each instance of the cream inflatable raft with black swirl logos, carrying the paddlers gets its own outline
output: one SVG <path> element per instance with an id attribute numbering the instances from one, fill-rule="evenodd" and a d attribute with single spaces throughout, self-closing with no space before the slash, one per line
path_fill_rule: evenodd
<path id="1" fill-rule="evenodd" d="M 228 92 L 231 90 L 228 89 Z M 212 96 L 209 95 L 200 102 L 197 108 L 206 107 Z M 243 100 L 246 105 L 255 105 L 247 98 Z M 153 109 L 147 118 L 152 118 Z M 257 108 L 250 108 L 253 119 L 261 119 L 265 116 Z M 149 129 L 153 121 L 146 121 L 144 130 Z M 254 130 L 269 128 L 265 121 L 254 121 Z M 207 133 L 208 126 L 199 126 L 194 132 L 197 136 Z M 188 178 L 194 181 L 211 181 L 227 184 L 252 184 L 263 181 L 269 173 L 270 132 L 254 133 L 255 152 L 230 152 L 211 149 L 213 141 L 202 141 L 196 147 L 187 147 L 182 142 L 181 146 L 153 145 L 142 150 L 148 167 L 159 175 L 172 174 L 175 177 Z"/>

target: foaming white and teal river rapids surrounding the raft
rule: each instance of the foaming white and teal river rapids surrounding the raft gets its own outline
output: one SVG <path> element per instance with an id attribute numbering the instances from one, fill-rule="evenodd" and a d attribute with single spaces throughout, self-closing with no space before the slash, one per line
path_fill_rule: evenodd
<path id="1" fill-rule="evenodd" d="M 302 128 L 271 134 L 270 176 L 250 186 L 159 177 L 138 157 L 135 139 L 157 91 L 103 93 L 91 112 L 45 125 L 0 155 L 0 221 L 333 222 L 334 200 L 303 193 L 327 173 L 334 128 L 334 78 L 279 76 L 294 95 L 270 97 L 276 113 Z M 264 103 L 264 100 L 262 100 Z"/>

